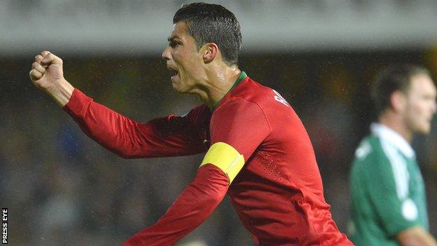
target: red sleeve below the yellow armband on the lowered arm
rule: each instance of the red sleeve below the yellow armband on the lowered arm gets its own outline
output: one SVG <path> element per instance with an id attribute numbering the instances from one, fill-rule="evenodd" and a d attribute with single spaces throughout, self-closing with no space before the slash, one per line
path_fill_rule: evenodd
<path id="1" fill-rule="evenodd" d="M 215 165 L 202 165 L 167 212 L 123 246 L 172 245 L 193 231 L 216 209 L 228 191 L 228 176 Z"/>

